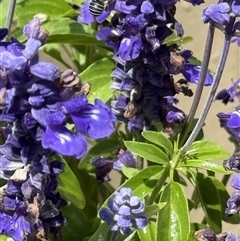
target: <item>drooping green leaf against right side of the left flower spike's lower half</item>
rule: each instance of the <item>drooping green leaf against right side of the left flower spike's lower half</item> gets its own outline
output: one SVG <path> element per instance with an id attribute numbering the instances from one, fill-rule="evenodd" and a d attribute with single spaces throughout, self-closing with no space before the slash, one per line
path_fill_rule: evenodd
<path id="1" fill-rule="evenodd" d="M 78 182 L 77 177 L 72 172 L 68 163 L 61 158 L 65 164 L 64 171 L 58 176 L 58 191 L 62 197 L 82 209 L 85 206 L 85 197 Z"/>

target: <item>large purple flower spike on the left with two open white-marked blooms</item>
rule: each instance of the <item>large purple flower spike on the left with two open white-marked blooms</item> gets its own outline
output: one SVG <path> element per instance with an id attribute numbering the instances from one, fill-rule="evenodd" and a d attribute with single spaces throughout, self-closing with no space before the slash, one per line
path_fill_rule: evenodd
<path id="1" fill-rule="evenodd" d="M 0 29 L 4 39 L 7 29 Z M 34 18 L 24 27 L 25 45 L 12 38 L 0 42 L 0 233 L 15 241 L 37 238 L 66 225 L 57 192 L 64 164 L 54 154 L 81 158 L 83 135 L 103 138 L 114 130 L 115 116 L 100 100 L 90 104 L 86 88 L 73 70 L 60 73 L 39 60 L 47 32 Z M 74 124 L 74 130 L 67 128 Z"/>

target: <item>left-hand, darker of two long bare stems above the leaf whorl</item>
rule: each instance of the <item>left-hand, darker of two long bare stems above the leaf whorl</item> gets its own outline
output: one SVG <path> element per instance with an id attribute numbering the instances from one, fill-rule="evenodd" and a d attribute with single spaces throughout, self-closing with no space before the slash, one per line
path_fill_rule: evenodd
<path id="1" fill-rule="evenodd" d="M 209 28 L 208 28 L 208 34 L 207 34 L 207 39 L 206 39 L 206 44 L 205 44 L 205 50 L 204 50 L 204 55 L 203 55 L 203 62 L 201 66 L 201 73 L 200 73 L 200 79 L 197 85 L 197 89 L 194 95 L 193 103 L 191 106 L 191 109 L 189 111 L 186 124 L 186 130 L 183 133 L 183 136 L 181 137 L 181 143 L 180 145 L 182 146 L 183 142 L 186 139 L 187 134 L 190 131 L 190 128 L 193 124 L 193 118 L 196 114 L 197 107 L 199 105 L 201 96 L 202 96 L 202 91 L 204 87 L 204 82 L 206 79 L 207 71 L 208 71 L 208 65 L 210 61 L 210 56 L 212 52 L 212 45 L 213 45 L 213 37 L 214 37 L 214 32 L 215 32 L 215 27 L 213 23 L 209 23 Z"/>

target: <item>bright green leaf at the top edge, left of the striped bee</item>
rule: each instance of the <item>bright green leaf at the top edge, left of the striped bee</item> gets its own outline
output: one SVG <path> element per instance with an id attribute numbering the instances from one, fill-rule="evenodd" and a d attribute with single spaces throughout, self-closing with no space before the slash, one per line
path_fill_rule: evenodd
<path id="1" fill-rule="evenodd" d="M 39 13 L 46 14 L 52 19 L 67 16 L 72 11 L 73 9 L 64 0 L 24 0 L 16 6 L 19 27 L 23 27 Z"/>

